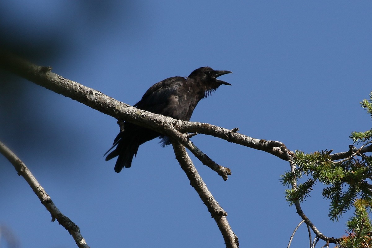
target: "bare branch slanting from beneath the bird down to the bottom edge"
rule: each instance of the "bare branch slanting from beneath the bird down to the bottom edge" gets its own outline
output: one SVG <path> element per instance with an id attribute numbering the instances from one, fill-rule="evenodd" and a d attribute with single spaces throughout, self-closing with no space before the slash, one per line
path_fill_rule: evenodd
<path id="1" fill-rule="evenodd" d="M 172 142 L 172 145 L 174 154 L 176 154 L 176 159 L 180 163 L 182 170 L 185 171 L 187 178 L 189 178 L 190 185 L 194 187 L 196 192 L 198 192 L 200 199 L 202 199 L 203 203 L 207 206 L 212 218 L 215 219 L 218 228 L 224 237 L 226 247 L 238 248 L 238 237 L 232 231 L 230 224 L 227 221 L 227 213 L 221 206 L 219 206 L 218 202 L 212 196 L 212 193 L 208 190 L 187 154 L 185 147 L 177 142 Z"/>

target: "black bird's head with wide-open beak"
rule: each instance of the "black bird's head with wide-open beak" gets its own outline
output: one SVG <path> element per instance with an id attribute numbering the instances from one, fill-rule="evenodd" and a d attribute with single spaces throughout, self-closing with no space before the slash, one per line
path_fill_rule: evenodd
<path id="1" fill-rule="evenodd" d="M 205 96 L 207 97 L 212 91 L 215 91 L 220 85 L 231 85 L 217 77 L 232 73 L 231 71 L 215 71 L 211 67 L 200 67 L 194 70 L 189 78 L 192 78 L 205 86 Z"/>

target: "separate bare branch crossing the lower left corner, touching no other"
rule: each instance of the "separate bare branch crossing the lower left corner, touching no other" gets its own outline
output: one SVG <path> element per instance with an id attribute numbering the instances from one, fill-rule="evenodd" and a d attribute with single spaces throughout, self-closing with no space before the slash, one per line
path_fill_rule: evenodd
<path id="1" fill-rule="evenodd" d="M 18 175 L 22 175 L 27 181 L 33 192 L 39 197 L 41 203 L 45 208 L 51 213 L 52 221 L 56 220 L 60 225 L 62 225 L 70 234 L 73 236 L 76 244 L 80 248 L 89 248 L 85 239 L 80 233 L 79 227 L 72 222 L 67 216 L 65 216 L 61 211 L 54 205 L 52 199 L 49 197 L 44 188 L 41 187 L 36 178 L 32 175 L 31 171 L 26 167 L 26 165 L 12 152 L 7 146 L 0 142 L 0 153 L 9 160 L 18 172 Z"/>

